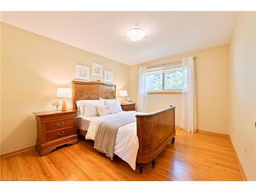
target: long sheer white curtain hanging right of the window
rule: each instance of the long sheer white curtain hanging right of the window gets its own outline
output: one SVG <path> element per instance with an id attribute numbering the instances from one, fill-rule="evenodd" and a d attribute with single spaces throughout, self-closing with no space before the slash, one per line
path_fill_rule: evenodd
<path id="1" fill-rule="evenodd" d="M 187 70 L 183 82 L 186 86 L 182 90 L 182 109 L 180 127 L 188 132 L 196 132 L 196 97 L 195 97 L 195 73 L 193 57 L 182 58 L 182 68 Z"/>

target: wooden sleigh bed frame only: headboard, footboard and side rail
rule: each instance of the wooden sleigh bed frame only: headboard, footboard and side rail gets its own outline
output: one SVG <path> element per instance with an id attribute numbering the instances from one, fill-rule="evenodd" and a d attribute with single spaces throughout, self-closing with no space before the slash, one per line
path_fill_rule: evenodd
<path id="1" fill-rule="evenodd" d="M 78 100 L 116 98 L 116 85 L 99 80 L 94 82 L 72 81 L 72 89 L 73 109 L 77 109 L 76 101 Z M 142 173 L 144 163 L 152 162 L 154 168 L 158 154 L 167 144 L 175 141 L 175 106 L 154 113 L 137 114 L 136 124 L 139 145 L 136 163 Z M 78 134 L 86 136 L 87 131 L 78 129 Z"/>

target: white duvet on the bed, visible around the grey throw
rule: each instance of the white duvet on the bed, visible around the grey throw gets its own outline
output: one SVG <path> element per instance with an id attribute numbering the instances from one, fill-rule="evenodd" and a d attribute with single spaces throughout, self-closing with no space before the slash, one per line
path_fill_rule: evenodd
<path id="1" fill-rule="evenodd" d="M 99 123 L 106 120 L 106 119 L 115 119 L 117 116 L 125 116 L 129 114 L 145 114 L 145 113 L 139 113 L 135 111 L 127 111 L 127 112 L 120 112 L 117 114 L 112 115 L 104 115 L 99 116 L 97 118 L 94 118 L 91 120 L 91 123 L 89 125 L 86 139 L 94 140 L 95 134 L 99 128 Z M 137 152 L 139 149 L 139 139 L 137 137 L 137 123 L 132 122 L 129 124 L 126 124 L 124 126 L 121 126 L 118 129 L 117 136 L 116 136 L 116 143 L 115 143 L 115 150 L 114 154 L 118 155 L 122 160 L 127 162 L 134 170 L 136 168 L 136 157 Z"/>

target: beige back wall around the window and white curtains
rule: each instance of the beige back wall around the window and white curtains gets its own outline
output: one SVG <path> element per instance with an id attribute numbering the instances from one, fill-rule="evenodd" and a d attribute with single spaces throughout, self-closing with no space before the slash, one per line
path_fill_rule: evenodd
<path id="1" fill-rule="evenodd" d="M 137 101 L 138 66 L 152 66 L 163 62 L 197 56 L 196 105 L 197 129 L 209 132 L 228 133 L 228 45 L 166 57 L 130 67 L 130 95 Z M 148 95 L 149 111 L 176 105 L 176 124 L 180 123 L 181 94 Z"/>

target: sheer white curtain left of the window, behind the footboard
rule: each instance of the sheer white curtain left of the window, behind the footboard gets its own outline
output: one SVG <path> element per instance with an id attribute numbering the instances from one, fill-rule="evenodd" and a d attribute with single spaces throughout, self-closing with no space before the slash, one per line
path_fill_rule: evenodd
<path id="1" fill-rule="evenodd" d="M 147 112 L 146 67 L 139 68 L 137 111 Z"/>

